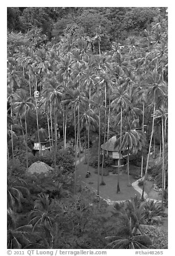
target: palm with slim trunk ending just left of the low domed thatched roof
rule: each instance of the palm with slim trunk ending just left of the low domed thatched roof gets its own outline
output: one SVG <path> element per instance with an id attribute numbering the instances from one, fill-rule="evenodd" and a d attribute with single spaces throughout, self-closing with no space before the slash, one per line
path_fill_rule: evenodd
<path id="1" fill-rule="evenodd" d="M 24 89 L 18 89 L 14 93 L 14 108 L 20 113 L 21 117 L 25 118 L 25 130 L 26 130 L 26 167 L 28 169 L 28 145 L 27 145 L 27 120 L 26 115 L 30 109 L 33 108 L 33 103 L 31 103 L 31 98 L 28 96 Z"/>

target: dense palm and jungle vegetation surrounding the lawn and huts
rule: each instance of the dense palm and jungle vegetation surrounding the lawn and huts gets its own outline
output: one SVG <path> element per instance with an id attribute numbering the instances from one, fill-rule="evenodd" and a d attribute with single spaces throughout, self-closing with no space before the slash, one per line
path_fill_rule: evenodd
<path id="1" fill-rule="evenodd" d="M 61 248 L 103 248 L 104 237 L 115 233 L 101 225 L 97 205 L 84 208 L 92 200 L 87 199 L 87 191 L 76 201 L 69 197 L 78 190 L 76 160 L 82 138 L 89 150 L 92 132 L 98 137 L 98 168 L 100 145 L 116 136 L 120 153 L 128 155 L 128 177 L 129 156 L 142 157 L 141 177 L 146 176 L 152 146 L 158 145 L 163 195 L 167 188 L 166 11 L 163 7 L 8 8 L 8 248 L 31 244 L 57 248 L 57 243 Z M 48 130 L 53 150 L 34 156 L 32 136 L 38 132 L 39 142 L 41 128 Z M 74 150 L 66 149 L 68 138 L 73 139 Z M 53 167 L 47 180 L 44 175 L 26 176 L 26 168 L 37 160 Z M 89 166 L 89 153 L 87 162 Z M 99 195 L 99 186 L 97 191 Z M 67 199 L 61 202 L 57 200 L 60 197 Z M 139 205 L 145 216 L 150 206 Z M 120 226 L 120 236 L 134 239 L 121 246 L 155 248 L 159 234 L 152 234 L 154 246 L 142 229 L 141 247 L 135 238 L 136 227 L 150 225 L 150 218 L 131 224 L 133 215 L 120 207 L 116 206 L 118 216 L 123 219 L 125 215 L 128 228 L 122 233 Z M 21 212 L 28 222 L 24 215 L 21 222 L 16 218 Z M 134 233 L 129 233 L 131 230 Z M 43 233 L 47 233 L 46 239 L 42 239 Z M 115 246 L 119 248 L 117 243 Z"/>

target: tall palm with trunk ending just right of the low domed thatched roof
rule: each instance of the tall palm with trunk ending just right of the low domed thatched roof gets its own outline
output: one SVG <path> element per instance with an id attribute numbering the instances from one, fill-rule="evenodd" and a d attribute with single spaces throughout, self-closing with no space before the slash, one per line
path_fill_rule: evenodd
<path id="1" fill-rule="evenodd" d="M 54 125 L 55 125 L 55 148 L 54 148 L 54 168 L 56 170 L 56 152 L 57 152 L 57 138 L 56 138 L 56 108 L 60 105 L 63 97 L 63 86 L 58 83 L 56 79 L 50 79 L 45 85 L 43 95 L 50 100 L 54 109 Z"/>

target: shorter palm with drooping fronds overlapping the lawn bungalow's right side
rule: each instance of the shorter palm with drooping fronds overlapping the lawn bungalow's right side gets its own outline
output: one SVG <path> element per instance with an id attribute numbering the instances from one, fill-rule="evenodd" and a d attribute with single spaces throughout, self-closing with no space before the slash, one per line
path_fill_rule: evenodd
<path id="1" fill-rule="evenodd" d="M 129 179 L 129 154 L 136 154 L 137 151 L 142 149 L 142 146 L 145 145 L 145 135 L 142 131 L 135 130 L 138 124 L 138 119 L 134 119 L 133 121 L 129 117 L 125 117 L 123 123 L 123 132 L 122 138 L 116 136 L 118 138 L 116 140 L 116 144 L 120 145 L 121 139 L 121 150 L 127 151 L 128 161 L 127 161 L 127 173 L 128 173 L 128 186 L 131 186 Z"/>

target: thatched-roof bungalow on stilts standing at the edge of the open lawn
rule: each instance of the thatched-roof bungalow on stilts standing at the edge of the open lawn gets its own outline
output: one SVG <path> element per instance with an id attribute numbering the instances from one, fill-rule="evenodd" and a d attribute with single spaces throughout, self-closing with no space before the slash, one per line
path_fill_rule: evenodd
<path id="1" fill-rule="evenodd" d="M 101 145 L 101 149 L 104 150 L 104 154 L 110 155 L 114 159 L 112 166 L 119 165 L 119 146 L 116 146 L 116 136 L 113 136 L 111 139 L 106 141 L 105 144 Z M 103 152 L 102 152 L 103 153 Z M 125 155 L 126 157 L 126 155 Z M 120 154 L 120 165 L 123 166 L 126 164 L 126 159 L 123 156 L 122 152 Z"/>

